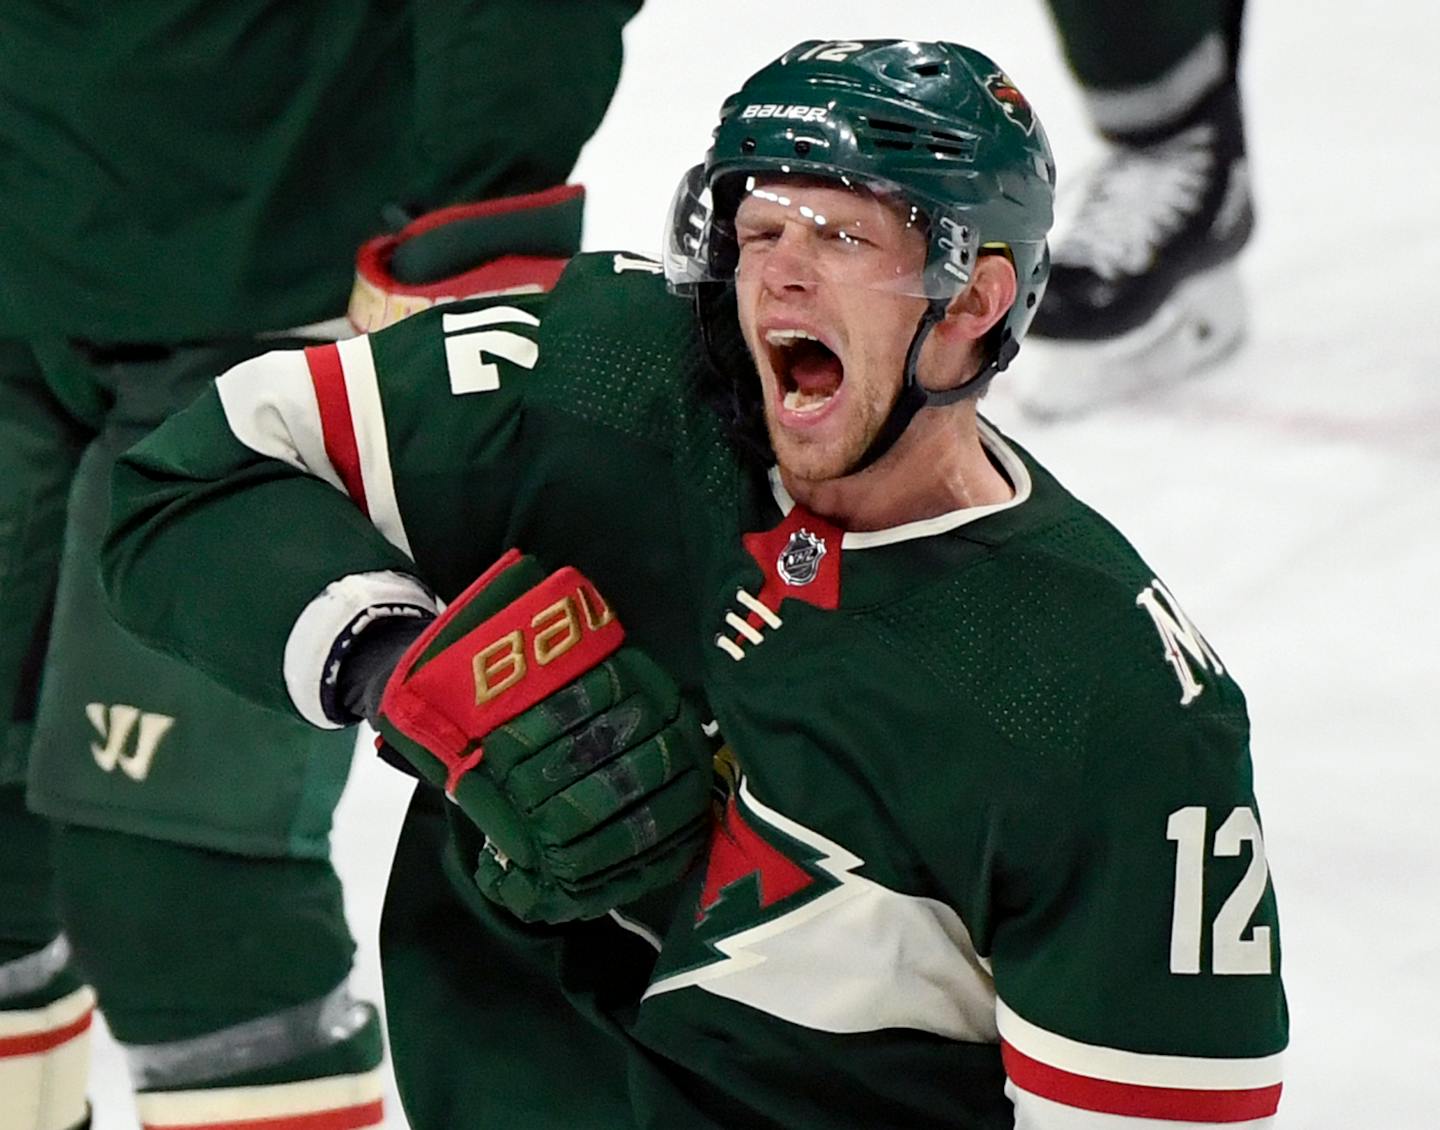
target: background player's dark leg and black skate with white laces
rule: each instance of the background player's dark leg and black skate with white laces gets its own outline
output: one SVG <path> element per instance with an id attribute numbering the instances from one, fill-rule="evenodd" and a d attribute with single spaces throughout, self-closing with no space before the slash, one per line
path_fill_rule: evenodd
<path id="1" fill-rule="evenodd" d="M 1244 337 L 1244 0 L 1050 7 L 1109 151 L 1056 243 L 1032 327 L 1053 347 L 1017 394 L 1035 416 L 1073 416 L 1200 371 Z"/>

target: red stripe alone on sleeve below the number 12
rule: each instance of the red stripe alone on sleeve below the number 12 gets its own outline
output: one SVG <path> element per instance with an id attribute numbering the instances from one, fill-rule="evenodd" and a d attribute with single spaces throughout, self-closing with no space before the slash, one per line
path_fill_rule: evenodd
<path id="1" fill-rule="evenodd" d="M 1266 1118 L 1280 1106 L 1280 1084 L 1231 1091 L 1146 1087 L 1076 1075 L 1031 1059 L 1001 1041 L 1005 1072 L 1031 1094 L 1080 1110 L 1191 1123 L 1243 1123 Z"/>

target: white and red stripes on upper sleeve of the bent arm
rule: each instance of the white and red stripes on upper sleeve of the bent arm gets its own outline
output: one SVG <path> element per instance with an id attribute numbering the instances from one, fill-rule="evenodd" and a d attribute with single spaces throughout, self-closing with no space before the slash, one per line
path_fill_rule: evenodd
<path id="1" fill-rule="evenodd" d="M 392 544 L 412 556 L 395 495 L 370 338 L 268 353 L 238 364 L 215 386 L 240 443 L 344 491 Z"/>

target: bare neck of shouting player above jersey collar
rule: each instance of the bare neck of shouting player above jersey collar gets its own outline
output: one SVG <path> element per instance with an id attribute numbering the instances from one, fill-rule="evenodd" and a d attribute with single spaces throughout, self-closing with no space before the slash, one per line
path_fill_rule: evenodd
<path id="1" fill-rule="evenodd" d="M 796 479 L 791 497 L 845 530 L 887 530 L 969 507 L 1008 502 L 1015 491 L 981 445 L 973 403 L 920 412 L 873 466 L 840 479 Z"/>

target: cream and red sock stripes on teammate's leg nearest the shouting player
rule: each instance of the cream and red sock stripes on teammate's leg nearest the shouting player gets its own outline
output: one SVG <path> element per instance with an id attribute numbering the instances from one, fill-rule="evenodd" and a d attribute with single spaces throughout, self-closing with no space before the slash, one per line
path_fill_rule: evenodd
<path id="1" fill-rule="evenodd" d="M 360 1130 L 384 1121 L 380 1072 L 268 1087 L 143 1091 L 144 1130 Z"/>

